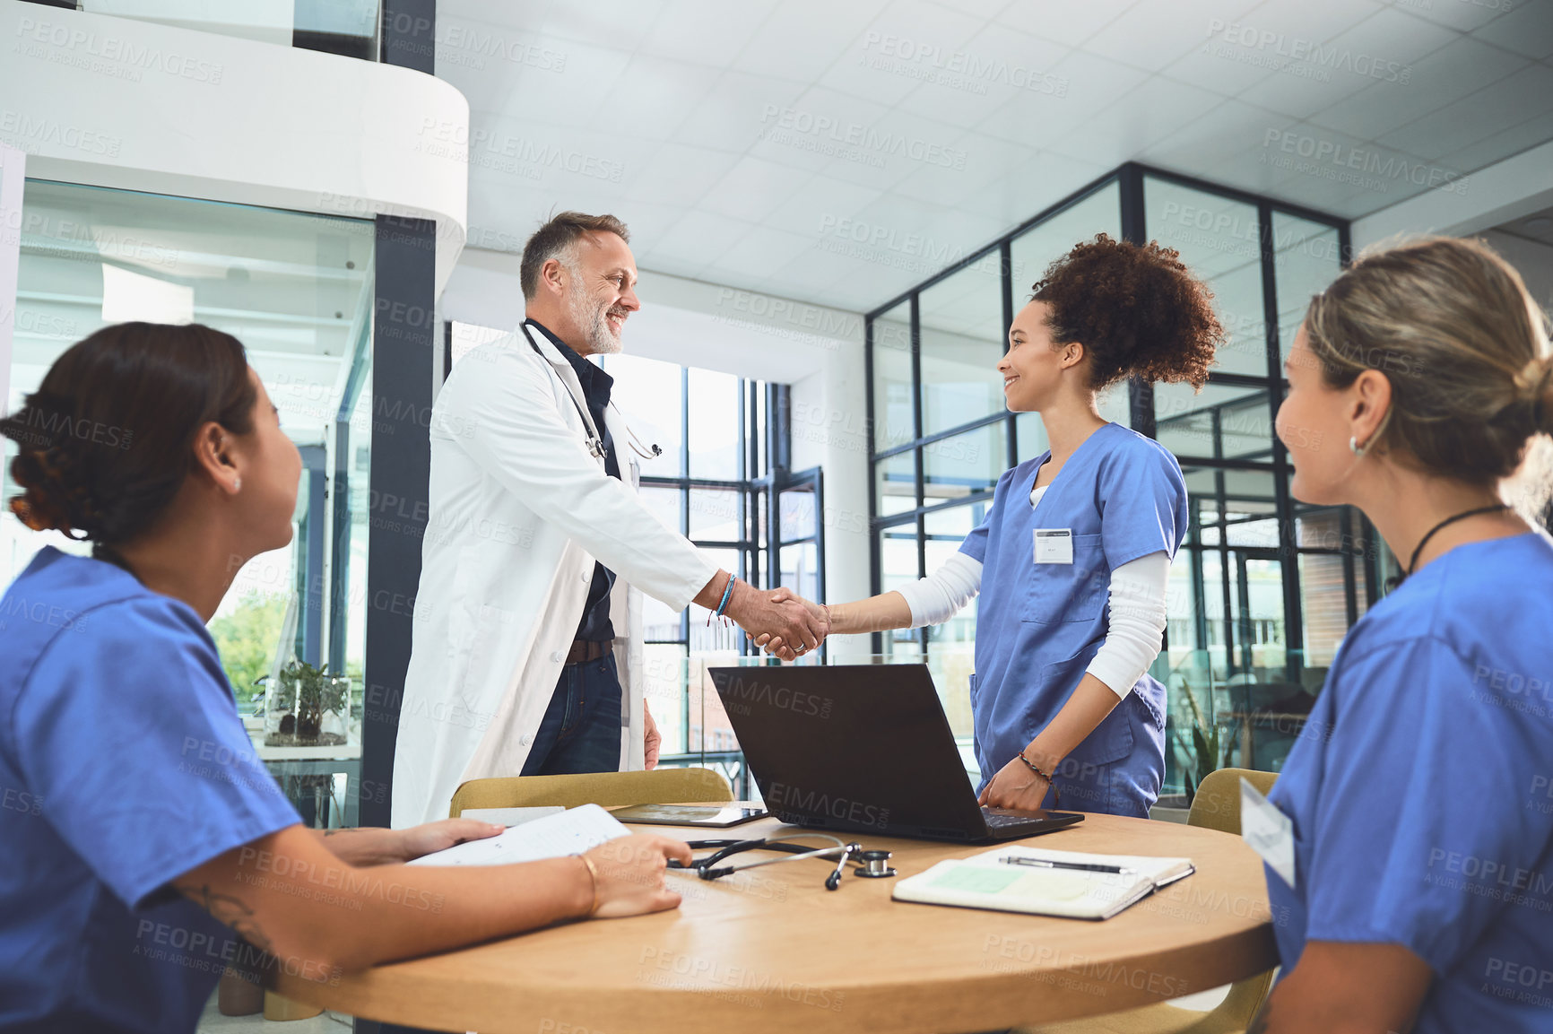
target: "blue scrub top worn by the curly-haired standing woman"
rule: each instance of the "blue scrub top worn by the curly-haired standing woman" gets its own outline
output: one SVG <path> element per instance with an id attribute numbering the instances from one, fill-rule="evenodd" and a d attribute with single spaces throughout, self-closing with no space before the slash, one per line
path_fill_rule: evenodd
<path id="1" fill-rule="evenodd" d="M 1050 456 L 1044 452 L 1003 474 L 981 526 L 960 545 L 981 562 L 971 710 L 983 787 L 1030 745 L 1084 678 L 1109 629 L 1110 573 L 1151 553 L 1174 557 L 1186 534 L 1180 464 L 1152 438 L 1106 424 L 1068 456 L 1031 508 L 1036 472 Z M 1037 528 L 1072 529 L 1073 564 L 1036 564 Z M 1152 790 L 1143 787 L 1148 795 L 1159 792 L 1165 686 L 1145 674 L 1129 697 L 1137 703 L 1123 700 L 1127 706 L 1117 706 L 1056 775 L 1093 772 L 1137 748 L 1149 755 L 1138 759 L 1149 769 L 1138 781 L 1154 782 Z M 1138 705 L 1141 723 L 1134 713 Z M 1159 742 L 1137 742 L 1145 727 L 1159 730 Z M 1112 778 L 1110 784 L 1118 782 Z M 1126 810 L 1107 807 L 1106 795 L 1098 801 L 1062 800 L 1082 810 Z"/>

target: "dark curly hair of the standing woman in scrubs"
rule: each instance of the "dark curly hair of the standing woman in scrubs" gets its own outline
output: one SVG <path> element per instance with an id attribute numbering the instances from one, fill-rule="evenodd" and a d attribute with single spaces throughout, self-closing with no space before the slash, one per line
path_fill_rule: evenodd
<path id="1" fill-rule="evenodd" d="M 1084 345 L 1096 391 L 1123 377 L 1200 388 L 1224 340 L 1213 292 L 1157 241 L 1101 233 L 1048 265 L 1031 292 L 1051 306 L 1053 343 Z"/>

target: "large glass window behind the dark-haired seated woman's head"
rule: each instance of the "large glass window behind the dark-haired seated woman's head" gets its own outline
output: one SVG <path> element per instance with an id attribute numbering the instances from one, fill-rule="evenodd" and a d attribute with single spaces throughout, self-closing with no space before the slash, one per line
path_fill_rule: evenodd
<path id="1" fill-rule="evenodd" d="M 65 348 L 110 323 L 205 323 L 244 343 L 304 469 L 295 534 L 244 567 L 211 621 L 239 706 L 283 661 L 353 675 L 365 657 L 371 467 L 371 222 L 28 180 L 9 407 Z M 9 481 L 6 441 L 0 492 Z M 0 511 L 0 579 L 43 545 Z M 294 610 L 287 621 L 287 610 Z M 283 643 L 283 626 L 295 629 Z M 359 703 L 353 714 L 360 714 Z"/>

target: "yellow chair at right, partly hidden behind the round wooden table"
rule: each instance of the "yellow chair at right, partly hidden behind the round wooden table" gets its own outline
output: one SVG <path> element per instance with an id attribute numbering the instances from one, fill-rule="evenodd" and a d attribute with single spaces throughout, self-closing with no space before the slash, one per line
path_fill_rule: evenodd
<path id="1" fill-rule="evenodd" d="M 1264 795 L 1278 779 L 1273 772 L 1252 772 L 1250 769 L 1211 772 L 1191 800 L 1186 824 L 1207 826 L 1238 837 L 1241 834 L 1241 776 L 1246 776 L 1256 787 L 1256 792 Z M 1230 984 L 1228 997 L 1210 1012 L 1157 1001 L 1082 1020 L 1023 1026 L 1011 1034 L 1239 1034 L 1250 1026 L 1269 987 L 1272 987 L 1272 970 L 1236 980 Z"/>

